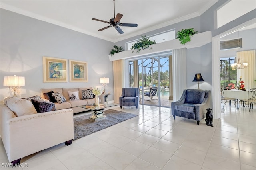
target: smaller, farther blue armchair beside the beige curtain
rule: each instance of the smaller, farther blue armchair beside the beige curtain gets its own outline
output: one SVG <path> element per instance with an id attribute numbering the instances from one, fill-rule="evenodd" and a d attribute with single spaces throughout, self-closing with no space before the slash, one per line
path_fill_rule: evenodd
<path id="1" fill-rule="evenodd" d="M 122 96 L 119 97 L 119 106 L 139 106 L 139 88 L 123 88 Z"/>

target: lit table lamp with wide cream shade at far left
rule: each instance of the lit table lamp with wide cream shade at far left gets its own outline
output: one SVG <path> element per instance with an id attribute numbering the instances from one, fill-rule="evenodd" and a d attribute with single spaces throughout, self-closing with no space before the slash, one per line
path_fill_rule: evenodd
<path id="1" fill-rule="evenodd" d="M 21 87 L 25 86 L 25 77 L 20 76 L 4 76 L 4 86 L 8 86 L 9 90 L 14 92 L 14 97 L 17 97 L 17 93 L 20 93 Z"/>

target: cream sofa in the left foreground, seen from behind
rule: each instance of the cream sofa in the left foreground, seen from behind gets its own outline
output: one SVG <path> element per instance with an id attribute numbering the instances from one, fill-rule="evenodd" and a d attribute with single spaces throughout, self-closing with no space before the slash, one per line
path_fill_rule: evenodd
<path id="1" fill-rule="evenodd" d="M 20 99 L 25 100 L 25 99 Z M 28 101 L 29 102 L 29 101 Z M 15 111 L 1 104 L 1 138 L 8 160 L 14 166 L 21 158 L 40 150 L 65 142 L 70 145 L 74 139 L 72 109 L 61 109 L 44 113 L 29 113 L 16 116 Z M 26 106 L 17 109 L 26 110 Z M 35 109 L 35 108 L 34 108 Z"/>

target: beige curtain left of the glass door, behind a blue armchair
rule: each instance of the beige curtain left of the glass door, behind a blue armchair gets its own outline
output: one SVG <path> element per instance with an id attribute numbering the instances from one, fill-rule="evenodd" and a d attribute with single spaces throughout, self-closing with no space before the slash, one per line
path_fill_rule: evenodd
<path id="1" fill-rule="evenodd" d="M 119 103 L 119 97 L 124 87 L 124 59 L 113 61 L 114 103 Z"/>

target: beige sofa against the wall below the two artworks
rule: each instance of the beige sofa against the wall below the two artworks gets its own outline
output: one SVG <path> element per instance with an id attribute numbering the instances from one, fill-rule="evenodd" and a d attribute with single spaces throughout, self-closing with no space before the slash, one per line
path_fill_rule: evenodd
<path id="1" fill-rule="evenodd" d="M 88 109 L 84 109 L 82 107 L 77 107 L 81 105 L 87 105 L 87 104 L 94 104 L 95 103 L 95 98 L 93 99 L 84 99 L 82 100 L 82 90 L 88 90 L 92 89 L 92 87 L 88 88 L 49 88 L 49 89 L 41 89 L 41 98 L 44 98 L 44 93 L 53 91 L 54 93 L 60 92 L 65 98 L 66 102 L 58 103 L 54 102 L 56 109 L 72 109 L 74 113 L 79 113 L 82 111 L 86 111 Z M 69 95 L 68 92 L 79 92 L 79 100 L 69 100 Z"/>

